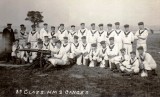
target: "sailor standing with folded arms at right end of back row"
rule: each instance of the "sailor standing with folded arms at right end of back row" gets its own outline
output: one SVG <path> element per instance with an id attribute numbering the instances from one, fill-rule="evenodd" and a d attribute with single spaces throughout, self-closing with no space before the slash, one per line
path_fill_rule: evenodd
<path id="1" fill-rule="evenodd" d="M 144 23 L 139 22 L 138 23 L 139 30 L 135 33 L 135 39 L 137 40 L 137 48 L 139 46 L 142 46 L 144 48 L 144 51 L 147 51 L 147 37 L 148 37 L 148 31 L 144 28 Z M 138 52 L 136 52 L 138 54 Z"/>

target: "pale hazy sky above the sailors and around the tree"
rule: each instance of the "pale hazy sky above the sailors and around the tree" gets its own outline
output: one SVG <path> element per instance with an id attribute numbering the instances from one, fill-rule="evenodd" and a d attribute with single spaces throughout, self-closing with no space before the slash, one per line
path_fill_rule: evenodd
<path id="1" fill-rule="evenodd" d="M 160 0 L 0 0 L 0 26 L 25 21 L 28 11 L 40 11 L 49 25 L 67 26 L 91 23 L 115 23 L 160 26 Z M 41 24 L 42 25 L 42 24 Z"/>

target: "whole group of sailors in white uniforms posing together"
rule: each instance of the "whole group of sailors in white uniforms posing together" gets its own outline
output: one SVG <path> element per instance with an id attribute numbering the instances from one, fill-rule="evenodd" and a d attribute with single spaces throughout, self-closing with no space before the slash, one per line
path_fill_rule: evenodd
<path id="1" fill-rule="evenodd" d="M 103 24 L 98 26 L 99 29 L 96 29 L 95 23 L 92 23 L 91 29 L 87 29 L 85 23 L 81 23 L 81 28 L 76 31 L 75 25 L 71 25 L 71 30 L 66 30 L 64 24 L 60 24 L 56 31 L 54 26 L 49 30 L 48 24 L 44 23 L 40 31 L 32 25 L 32 30 L 27 34 L 22 24 L 18 39 L 12 46 L 12 57 L 33 63 L 39 57 L 37 52 L 19 50 L 49 50 L 51 54 L 44 57 L 46 70 L 57 65 L 69 65 L 70 61 L 75 60 L 77 65 L 99 66 L 113 72 L 140 73 L 142 77 L 155 74 L 157 65 L 146 52 L 149 32 L 143 22 L 138 23 L 136 33 L 130 31 L 128 24 L 124 25 L 124 31 L 121 30 L 119 22 L 115 23 L 115 29 L 112 24 L 107 24 L 107 31 Z M 137 40 L 136 51 L 132 47 L 134 40 Z"/>

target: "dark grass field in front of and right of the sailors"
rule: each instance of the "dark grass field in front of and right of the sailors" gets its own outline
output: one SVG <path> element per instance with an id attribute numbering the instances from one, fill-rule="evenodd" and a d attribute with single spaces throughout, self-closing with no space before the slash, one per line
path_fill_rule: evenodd
<path id="1" fill-rule="evenodd" d="M 158 76 L 153 78 L 124 77 L 108 69 L 76 65 L 45 73 L 41 69 L 0 67 L 0 97 L 160 97 L 160 34 L 150 34 L 147 43 L 148 52 L 158 65 Z M 25 95 L 16 94 L 17 89 L 54 90 L 55 93 Z M 66 90 L 85 91 L 85 94 L 69 94 Z"/>

